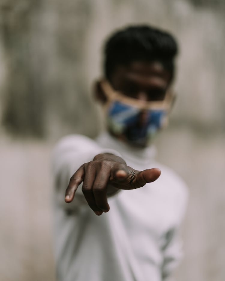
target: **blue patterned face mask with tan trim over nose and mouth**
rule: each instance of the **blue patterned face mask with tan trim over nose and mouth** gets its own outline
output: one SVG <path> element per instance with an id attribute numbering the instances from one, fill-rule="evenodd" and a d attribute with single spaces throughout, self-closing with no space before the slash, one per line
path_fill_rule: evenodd
<path id="1" fill-rule="evenodd" d="M 146 102 L 116 92 L 107 81 L 101 82 L 107 96 L 107 127 L 113 135 L 134 146 L 147 146 L 168 123 L 172 96 L 162 101 Z"/>

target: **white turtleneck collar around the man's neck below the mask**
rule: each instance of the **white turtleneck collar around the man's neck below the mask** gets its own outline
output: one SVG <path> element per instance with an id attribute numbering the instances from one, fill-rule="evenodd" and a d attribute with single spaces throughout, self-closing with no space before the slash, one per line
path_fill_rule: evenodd
<path id="1" fill-rule="evenodd" d="M 156 148 L 153 145 L 145 148 L 129 146 L 122 140 L 114 138 L 108 132 L 102 132 L 96 138 L 96 141 L 102 147 L 114 149 L 125 159 L 136 162 L 137 164 L 149 164 L 154 161 L 156 155 Z"/>

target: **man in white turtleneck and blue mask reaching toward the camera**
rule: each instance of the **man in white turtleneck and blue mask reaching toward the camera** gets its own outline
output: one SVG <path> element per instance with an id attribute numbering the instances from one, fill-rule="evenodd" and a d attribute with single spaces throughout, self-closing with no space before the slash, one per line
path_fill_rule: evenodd
<path id="1" fill-rule="evenodd" d="M 173 104 L 176 53 L 174 38 L 149 26 L 107 41 L 95 84 L 107 132 L 67 136 L 54 152 L 58 280 L 159 281 L 176 267 L 187 190 L 151 144 Z"/>

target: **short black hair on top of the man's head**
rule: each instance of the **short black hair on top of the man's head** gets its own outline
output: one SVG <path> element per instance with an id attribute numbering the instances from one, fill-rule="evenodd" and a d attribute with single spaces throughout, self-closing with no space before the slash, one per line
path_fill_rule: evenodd
<path id="1" fill-rule="evenodd" d="M 117 65 L 132 61 L 160 61 L 173 77 L 178 53 L 175 38 L 148 25 L 129 26 L 116 31 L 105 43 L 104 74 L 108 80 Z"/>

